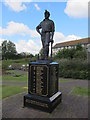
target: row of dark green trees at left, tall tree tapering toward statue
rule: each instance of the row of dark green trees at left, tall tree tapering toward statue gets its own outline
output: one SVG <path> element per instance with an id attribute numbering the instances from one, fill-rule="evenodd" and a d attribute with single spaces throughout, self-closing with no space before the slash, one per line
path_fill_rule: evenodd
<path id="1" fill-rule="evenodd" d="M 22 58 L 30 58 L 34 57 L 33 54 L 28 52 L 17 53 L 16 46 L 13 42 L 4 40 L 2 43 L 2 59 L 22 59 Z"/>

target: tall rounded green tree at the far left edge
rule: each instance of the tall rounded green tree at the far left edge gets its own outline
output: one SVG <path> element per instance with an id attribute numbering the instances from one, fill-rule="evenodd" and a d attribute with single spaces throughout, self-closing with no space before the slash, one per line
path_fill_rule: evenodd
<path id="1" fill-rule="evenodd" d="M 2 59 L 14 59 L 17 55 L 16 46 L 11 41 L 3 41 L 2 43 Z"/>

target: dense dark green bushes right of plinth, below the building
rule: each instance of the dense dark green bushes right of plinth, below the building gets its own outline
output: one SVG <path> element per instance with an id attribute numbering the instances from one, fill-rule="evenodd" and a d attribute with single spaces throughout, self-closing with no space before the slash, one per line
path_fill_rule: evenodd
<path id="1" fill-rule="evenodd" d="M 57 52 L 54 60 L 59 63 L 59 76 L 74 79 L 90 79 L 87 51 L 78 44 L 76 48 Z"/>

